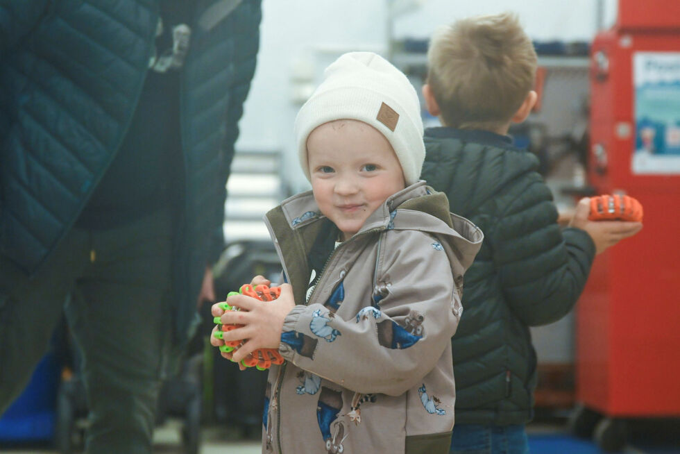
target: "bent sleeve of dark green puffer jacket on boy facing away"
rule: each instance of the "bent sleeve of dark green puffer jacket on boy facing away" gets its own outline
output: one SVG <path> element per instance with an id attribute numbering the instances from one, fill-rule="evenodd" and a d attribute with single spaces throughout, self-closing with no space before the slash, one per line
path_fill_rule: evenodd
<path id="1" fill-rule="evenodd" d="M 487 235 L 504 297 L 528 326 L 552 323 L 579 299 L 595 244 L 584 230 L 559 228 L 552 194 L 538 174 L 508 194 L 513 201 Z"/>

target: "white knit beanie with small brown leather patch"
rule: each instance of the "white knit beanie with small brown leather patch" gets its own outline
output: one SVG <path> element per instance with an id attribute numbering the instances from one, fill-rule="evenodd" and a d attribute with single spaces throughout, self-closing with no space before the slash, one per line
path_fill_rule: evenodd
<path id="1" fill-rule="evenodd" d="M 409 79 L 373 52 L 346 53 L 325 69 L 323 82 L 295 119 L 300 166 L 310 180 L 307 137 L 328 121 L 370 124 L 392 145 L 407 185 L 418 181 L 425 160 L 420 101 Z"/>

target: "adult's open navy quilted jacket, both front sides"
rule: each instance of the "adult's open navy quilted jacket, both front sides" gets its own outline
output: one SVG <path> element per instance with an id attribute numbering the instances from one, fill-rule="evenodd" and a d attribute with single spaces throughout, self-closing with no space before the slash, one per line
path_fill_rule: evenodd
<path id="1" fill-rule="evenodd" d="M 0 3 L 0 254 L 34 274 L 126 134 L 160 0 Z M 197 0 L 182 71 L 185 198 L 174 264 L 178 333 L 223 247 L 226 179 L 255 71 L 260 0 Z M 1 271 L 0 271 L 1 272 Z"/>

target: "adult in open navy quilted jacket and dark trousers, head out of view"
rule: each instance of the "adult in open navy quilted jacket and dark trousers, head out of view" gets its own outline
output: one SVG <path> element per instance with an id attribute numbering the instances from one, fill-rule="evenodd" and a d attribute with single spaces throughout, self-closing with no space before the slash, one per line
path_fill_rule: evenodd
<path id="1" fill-rule="evenodd" d="M 260 19 L 259 0 L 0 4 L 0 413 L 65 307 L 87 452 L 151 452 L 223 249 Z"/>

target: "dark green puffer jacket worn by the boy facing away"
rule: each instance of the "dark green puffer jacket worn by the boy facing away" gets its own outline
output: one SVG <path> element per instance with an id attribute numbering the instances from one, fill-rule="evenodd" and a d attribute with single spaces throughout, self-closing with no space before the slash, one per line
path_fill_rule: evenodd
<path id="1" fill-rule="evenodd" d="M 507 137 L 429 128 L 425 147 L 421 178 L 484 232 L 452 339 L 456 424 L 527 423 L 536 387 L 529 326 L 572 309 L 595 245 L 584 230 L 559 228 L 538 159 Z"/>

